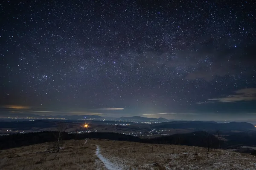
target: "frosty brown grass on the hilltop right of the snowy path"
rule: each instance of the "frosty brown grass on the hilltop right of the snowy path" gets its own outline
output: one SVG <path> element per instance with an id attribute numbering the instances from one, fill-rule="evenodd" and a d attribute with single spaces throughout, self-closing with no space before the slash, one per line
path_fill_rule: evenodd
<path id="1" fill-rule="evenodd" d="M 202 147 L 92 139 L 90 144 L 99 145 L 103 156 L 116 164 L 125 164 L 127 169 L 256 169 L 255 156 L 226 150 L 207 152 Z"/>

